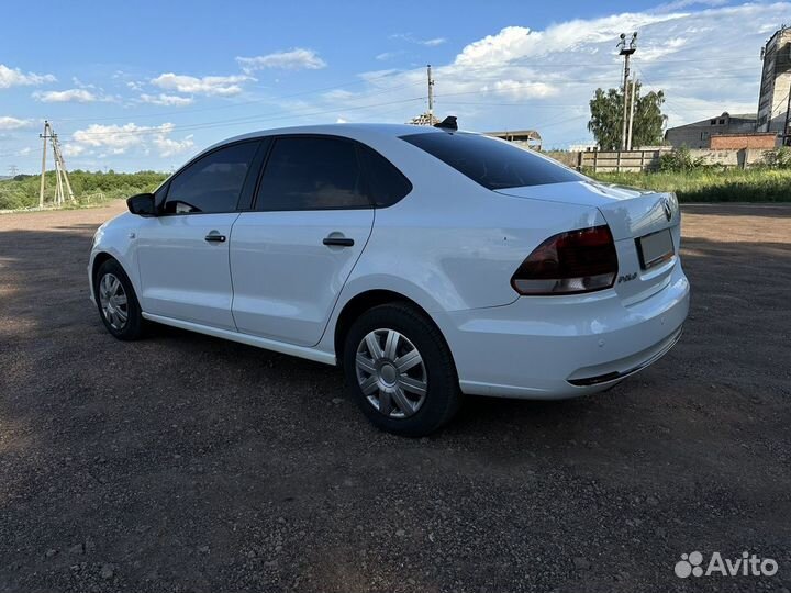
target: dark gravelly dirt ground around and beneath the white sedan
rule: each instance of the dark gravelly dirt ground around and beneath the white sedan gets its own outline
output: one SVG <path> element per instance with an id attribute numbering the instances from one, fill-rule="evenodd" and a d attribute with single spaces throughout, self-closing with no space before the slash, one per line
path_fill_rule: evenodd
<path id="1" fill-rule="evenodd" d="M 684 206 L 692 310 L 645 372 L 420 440 L 330 367 L 113 339 L 85 266 L 122 209 L 0 216 L 0 591 L 791 588 L 791 206 Z M 779 571 L 679 579 L 694 550 Z"/>

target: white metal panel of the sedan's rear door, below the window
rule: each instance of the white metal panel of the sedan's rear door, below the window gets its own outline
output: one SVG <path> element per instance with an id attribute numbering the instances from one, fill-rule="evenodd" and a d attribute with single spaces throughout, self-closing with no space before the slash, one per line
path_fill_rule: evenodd
<path id="1" fill-rule="evenodd" d="M 244 212 L 233 227 L 239 332 L 300 346 L 321 338 L 374 225 L 374 209 Z M 324 245 L 326 237 L 354 240 Z"/>

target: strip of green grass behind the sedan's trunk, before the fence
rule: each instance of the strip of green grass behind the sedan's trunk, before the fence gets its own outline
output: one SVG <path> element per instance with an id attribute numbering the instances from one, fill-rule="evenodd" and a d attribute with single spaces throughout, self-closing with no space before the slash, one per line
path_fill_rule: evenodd
<path id="1" fill-rule="evenodd" d="M 791 169 L 589 175 L 605 183 L 675 191 L 681 202 L 791 202 Z"/>

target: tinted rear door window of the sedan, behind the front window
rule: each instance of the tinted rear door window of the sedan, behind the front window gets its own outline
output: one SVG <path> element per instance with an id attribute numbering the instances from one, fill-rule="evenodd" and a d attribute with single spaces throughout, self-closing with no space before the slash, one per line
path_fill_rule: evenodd
<path id="1" fill-rule="evenodd" d="M 293 136 L 275 141 L 256 210 L 370 208 L 354 143 Z"/>

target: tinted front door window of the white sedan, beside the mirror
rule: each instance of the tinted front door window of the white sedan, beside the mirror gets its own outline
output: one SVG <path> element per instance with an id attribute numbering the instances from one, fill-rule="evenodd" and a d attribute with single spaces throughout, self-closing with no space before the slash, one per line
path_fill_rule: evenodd
<path id="1" fill-rule="evenodd" d="M 165 199 L 167 214 L 233 212 L 257 142 L 234 144 L 199 158 L 170 181 Z"/>

